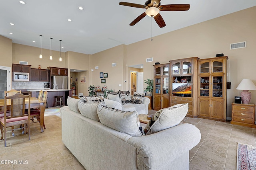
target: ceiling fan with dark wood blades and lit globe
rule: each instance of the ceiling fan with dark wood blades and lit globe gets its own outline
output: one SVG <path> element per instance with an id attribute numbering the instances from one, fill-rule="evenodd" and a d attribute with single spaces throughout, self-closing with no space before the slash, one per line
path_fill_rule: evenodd
<path id="1" fill-rule="evenodd" d="M 142 13 L 130 23 L 131 26 L 135 25 L 136 23 L 138 23 L 138 21 L 142 20 L 142 18 L 148 15 L 150 17 L 154 17 L 156 23 L 159 25 L 160 28 L 165 27 L 166 24 L 162 16 L 159 14 L 159 11 L 187 11 L 190 8 L 190 4 L 161 5 L 160 1 L 161 0 L 147 0 L 145 5 L 129 2 L 119 2 L 119 5 L 146 9 L 144 13 Z"/>

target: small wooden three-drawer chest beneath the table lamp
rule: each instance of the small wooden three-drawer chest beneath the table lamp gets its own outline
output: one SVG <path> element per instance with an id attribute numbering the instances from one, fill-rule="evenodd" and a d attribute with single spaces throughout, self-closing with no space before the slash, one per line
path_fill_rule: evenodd
<path id="1" fill-rule="evenodd" d="M 242 125 L 256 128 L 255 125 L 255 104 L 236 104 L 232 103 L 233 125 Z"/>

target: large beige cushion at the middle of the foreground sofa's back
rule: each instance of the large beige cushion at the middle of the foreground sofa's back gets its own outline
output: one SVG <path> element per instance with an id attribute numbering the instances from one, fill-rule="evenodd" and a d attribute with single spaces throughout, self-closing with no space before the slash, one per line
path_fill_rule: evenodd
<path id="1" fill-rule="evenodd" d="M 98 105 L 97 112 L 102 124 L 132 137 L 142 136 L 137 111 L 126 112 Z"/>

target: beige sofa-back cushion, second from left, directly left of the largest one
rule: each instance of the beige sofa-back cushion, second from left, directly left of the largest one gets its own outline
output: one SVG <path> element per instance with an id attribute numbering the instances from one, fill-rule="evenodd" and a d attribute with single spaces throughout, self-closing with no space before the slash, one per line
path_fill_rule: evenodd
<path id="1" fill-rule="evenodd" d="M 100 119 L 97 114 L 98 103 L 84 103 L 79 101 L 77 105 L 80 113 L 83 116 L 100 122 Z"/>

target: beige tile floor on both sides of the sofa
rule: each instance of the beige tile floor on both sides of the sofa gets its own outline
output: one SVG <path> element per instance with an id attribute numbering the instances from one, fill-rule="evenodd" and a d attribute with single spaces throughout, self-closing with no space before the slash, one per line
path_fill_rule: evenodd
<path id="1" fill-rule="evenodd" d="M 150 110 L 149 114 L 155 112 Z M 198 127 L 202 135 L 200 143 L 190 150 L 190 170 L 235 170 L 237 142 L 256 146 L 253 128 L 200 118 L 185 117 L 183 122 Z M 20 131 L 15 131 L 15 137 L 8 133 L 7 147 L 0 141 L 0 169 L 84 170 L 62 143 L 59 108 L 46 109 L 45 125 L 44 133 L 40 133 L 39 123 L 31 124 L 30 141 Z M 2 164 L 2 160 L 16 160 L 17 164 Z"/>

